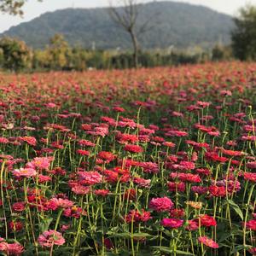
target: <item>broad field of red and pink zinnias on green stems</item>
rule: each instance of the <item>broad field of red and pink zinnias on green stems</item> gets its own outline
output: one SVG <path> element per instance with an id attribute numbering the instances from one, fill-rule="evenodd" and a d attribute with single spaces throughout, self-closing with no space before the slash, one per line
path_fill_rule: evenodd
<path id="1" fill-rule="evenodd" d="M 256 64 L 0 91 L 3 255 L 256 255 Z"/>

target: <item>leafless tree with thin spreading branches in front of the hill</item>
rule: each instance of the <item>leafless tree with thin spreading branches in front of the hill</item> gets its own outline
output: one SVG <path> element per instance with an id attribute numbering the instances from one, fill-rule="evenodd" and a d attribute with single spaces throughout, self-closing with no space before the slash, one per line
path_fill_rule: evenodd
<path id="1" fill-rule="evenodd" d="M 140 15 L 140 8 L 142 4 L 139 4 L 137 0 L 119 0 L 118 6 L 113 6 L 111 0 L 109 0 L 109 15 L 112 20 L 122 26 L 123 29 L 130 34 L 131 42 L 133 46 L 133 64 L 134 67 L 138 67 L 138 35 L 146 32 L 149 29 L 149 21 L 152 17 L 148 18 L 143 24 L 138 24 L 138 16 Z"/>

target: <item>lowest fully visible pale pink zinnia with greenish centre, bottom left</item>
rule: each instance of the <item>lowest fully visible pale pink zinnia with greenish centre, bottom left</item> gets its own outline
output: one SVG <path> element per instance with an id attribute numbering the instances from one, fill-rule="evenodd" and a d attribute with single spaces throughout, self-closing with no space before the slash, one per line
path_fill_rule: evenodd
<path id="1" fill-rule="evenodd" d="M 65 239 L 60 232 L 48 230 L 38 237 L 38 243 L 41 247 L 61 246 L 65 243 Z"/>

